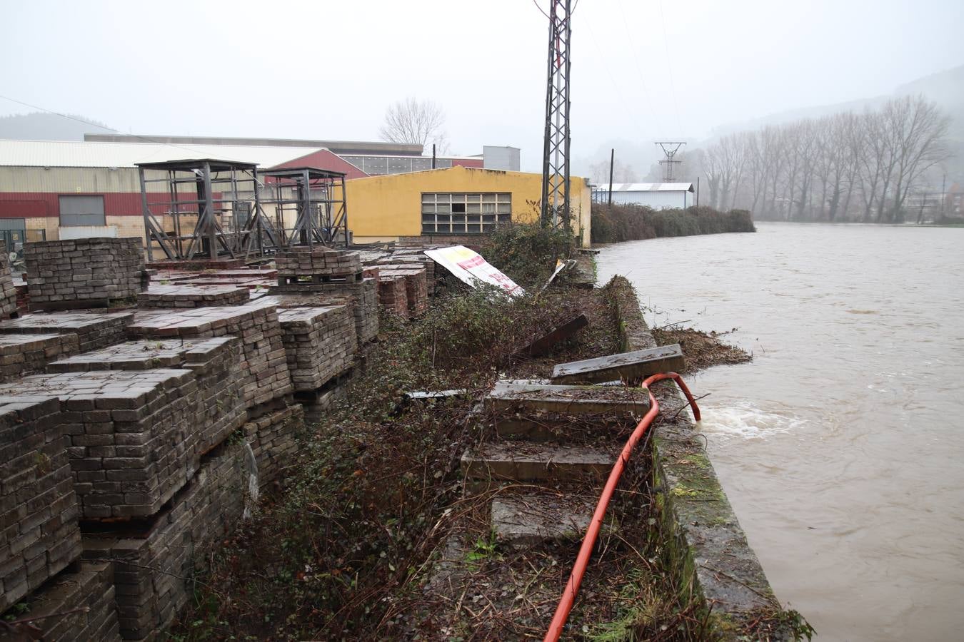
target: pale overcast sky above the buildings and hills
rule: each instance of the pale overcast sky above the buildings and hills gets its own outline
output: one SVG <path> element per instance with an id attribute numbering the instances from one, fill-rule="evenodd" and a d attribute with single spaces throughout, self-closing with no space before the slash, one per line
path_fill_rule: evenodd
<path id="1" fill-rule="evenodd" d="M 442 105 L 453 153 L 508 144 L 540 166 L 548 24 L 532 0 L 31 0 L 3 15 L 0 94 L 124 133 L 377 140 L 411 95 Z M 574 156 L 889 93 L 964 64 L 962 30 L 961 0 L 578 0 Z"/>

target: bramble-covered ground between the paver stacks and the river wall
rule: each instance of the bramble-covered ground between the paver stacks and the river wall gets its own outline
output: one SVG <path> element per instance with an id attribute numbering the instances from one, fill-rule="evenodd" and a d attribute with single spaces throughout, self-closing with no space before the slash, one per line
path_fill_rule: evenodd
<path id="1" fill-rule="evenodd" d="M 387 316 L 347 403 L 312 428 L 254 522 L 209 554 L 196 600 L 174 635 L 541 635 L 578 539 L 523 552 L 506 547 L 492 534 L 488 502 L 511 489 L 467 494 L 458 460 L 486 437 L 489 428 L 472 419 L 472 409 L 496 377 L 545 377 L 555 363 L 632 345 L 636 335 L 628 328 L 638 326 L 638 303 L 631 290 L 618 291 L 628 307 L 614 303 L 613 289 L 563 284 L 538 300 L 461 290 L 440 297 L 420 320 Z M 546 357 L 518 355 L 534 330 L 575 310 L 589 324 L 574 338 Z M 468 392 L 405 402 L 406 392 L 447 389 Z M 751 630 L 710 618 L 693 581 L 663 554 L 671 547 L 661 543 L 652 470 L 648 457 L 634 459 L 620 487 L 625 492 L 609 513 L 619 531 L 594 557 L 571 620 L 576 637 L 707 639 L 712 631 Z M 451 590 L 434 581 L 445 560 L 458 572 L 446 576 Z M 771 622 L 761 613 L 753 626 L 764 621 Z"/>

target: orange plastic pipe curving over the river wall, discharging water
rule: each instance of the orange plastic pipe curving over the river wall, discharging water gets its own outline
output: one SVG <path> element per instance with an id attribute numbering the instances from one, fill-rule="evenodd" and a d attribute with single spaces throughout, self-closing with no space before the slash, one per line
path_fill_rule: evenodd
<path id="1" fill-rule="evenodd" d="M 609 500 L 612 499 L 612 494 L 616 491 L 616 484 L 619 483 L 619 478 L 626 469 L 626 464 L 629 462 L 629 455 L 632 454 L 632 449 L 636 448 L 636 444 L 638 444 L 639 440 L 646 434 L 650 424 L 653 424 L 653 420 L 656 419 L 656 415 L 659 414 L 659 402 L 656 401 L 653 393 L 649 391 L 649 386 L 650 384 L 656 383 L 656 381 L 662 381 L 664 379 L 673 379 L 676 381 L 677 385 L 680 386 L 680 390 L 683 391 L 683 395 L 686 396 L 689 407 L 693 409 L 693 419 L 697 422 L 700 421 L 700 409 L 696 405 L 696 399 L 693 398 L 693 395 L 689 392 L 689 388 L 687 388 L 685 382 L 683 382 L 683 377 L 679 374 L 676 372 L 662 372 L 647 377 L 647 379 L 643 381 L 643 386 L 647 388 L 647 393 L 650 396 L 650 409 L 643 416 L 643 419 L 640 420 L 639 424 L 636 424 L 636 429 L 629 435 L 626 446 L 623 447 L 623 451 L 619 454 L 619 458 L 616 459 L 616 463 L 609 473 L 609 479 L 606 480 L 605 486 L 603 487 L 603 494 L 600 495 L 600 501 L 596 504 L 593 519 L 589 523 L 589 527 L 586 528 L 585 537 L 582 538 L 582 546 L 579 547 L 579 554 L 576 555 L 573 572 L 569 576 L 569 581 L 566 582 L 566 588 L 562 592 L 562 597 L 559 599 L 559 605 L 555 608 L 555 615 L 552 616 L 552 623 L 549 625 L 549 630 L 546 631 L 545 642 L 555 642 L 559 639 L 559 636 L 562 635 L 562 629 L 565 628 L 566 621 L 569 619 L 569 613 L 573 610 L 573 604 L 576 602 L 576 594 L 579 592 L 582 576 L 585 575 L 586 567 L 589 565 L 589 558 L 592 556 L 593 547 L 596 546 L 596 540 L 599 538 L 600 528 L 603 526 L 603 517 L 605 517 L 605 510 L 609 506 Z"/>

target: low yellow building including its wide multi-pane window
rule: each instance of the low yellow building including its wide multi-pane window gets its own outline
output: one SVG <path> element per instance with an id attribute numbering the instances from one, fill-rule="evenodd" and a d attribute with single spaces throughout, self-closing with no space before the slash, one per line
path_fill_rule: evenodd
<path id="1" fill-rule="evenodd" d="M 404 237 L 466 236 L 499 222 L 539 219 L 542 175 L 450 167 L 346 181 L 348 227 L 356 243 Z M 591 193 L 585 179 L 570 179 L 573 226 L 589 246 Z"/>

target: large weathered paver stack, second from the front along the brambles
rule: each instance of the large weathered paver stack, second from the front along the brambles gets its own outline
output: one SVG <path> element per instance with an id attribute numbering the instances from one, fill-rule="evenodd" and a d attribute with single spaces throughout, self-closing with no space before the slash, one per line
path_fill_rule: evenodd
<path id="1" fill-rule="evenodd" d="M 8 398 L 54 395 L 82 519 L 156 513 L 197 470 L 198 382 L 189 370 L 35 374 Z"/>

